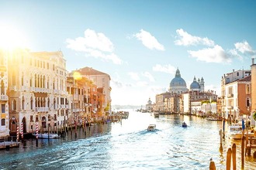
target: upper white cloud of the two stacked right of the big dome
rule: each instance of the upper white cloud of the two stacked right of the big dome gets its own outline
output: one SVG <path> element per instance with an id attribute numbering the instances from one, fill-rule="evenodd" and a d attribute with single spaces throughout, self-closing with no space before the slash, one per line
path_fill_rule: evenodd
<path id="1" fill-rule="evenodd" d="M 192 36 L 188 32 L 185 32 L 183 29 L 176 30 L 178 34 L 178 39 L 175 40 L 175 45 L 178 46 L 195 46 L 195 45 L 205 45 L 205 46 L 214 46 L 214 41 L 208 39 L 207 37 L 201 38 L 199 36 Z"/>

